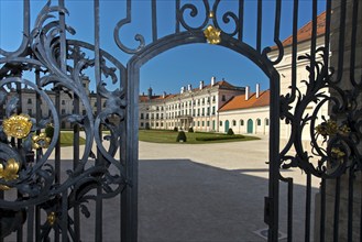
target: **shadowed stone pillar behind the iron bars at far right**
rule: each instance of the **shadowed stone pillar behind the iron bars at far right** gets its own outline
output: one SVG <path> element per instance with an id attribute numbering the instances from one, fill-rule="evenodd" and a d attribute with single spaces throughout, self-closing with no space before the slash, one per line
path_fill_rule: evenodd
<path id="1" fill-rule="evenodd" d="M 358 14 L 353 20 L 355 13 Z M 338 86 L 343 91 L 352 91 L 358 88 L 352 81 L 354 75 L 356 81 L 360 81 L 359 78 L 361 78 L 362 38 L 361 35 L 358 36 L 358 33 L 361 34 L 362 28 L 361 15 L 361 2 L 359 3 L 359 1 L 353 0 L 332 1 L 331 26 L 336 28 L 331 29 L 330 66 L 334 67 L 334 78 L 339 78 L 338 76 L 341 75 Z M 356 29 L 353 31 L 353 28 Z M 353 32 L 356 34 L 354 44 Z M 355 63 L 353 64 L 353 62 Z M 337 96 L 331 92 L 331 96 L 333 95 Z M 361 94 L 359 95 L 361 96 Z M 361 109 L 361 100 L 355 101 L 358 105 L 356 110 Z M 347 119 L 347 117 L 337 116 L 332 110 L 329 110 L 329 112 L 330 117 L 336 117 L 338 123 L 342 119 Z M 353 121 L 358 122 L 359 120 Z M 356 148 L 362 153 L 361 144 Z M 326 213 L 323 221 L 317 216 L 315 222 L 315 241 L 319 241 L 321 237 L 320 223 L 325 223 L 326 229 L 323 235 L 326 241 L 361 241 L 361 172 L 355 173 L 354 167 L 352 167 L 352 170 L 348 168 L 340 177 L 326 180 L 326 205 L 320 205 L 320 195 L 318 194 L 316 197 L 316 215 L 319 213 L 321 206 L 326 206 L 325 210 L 329 212 Z"/>

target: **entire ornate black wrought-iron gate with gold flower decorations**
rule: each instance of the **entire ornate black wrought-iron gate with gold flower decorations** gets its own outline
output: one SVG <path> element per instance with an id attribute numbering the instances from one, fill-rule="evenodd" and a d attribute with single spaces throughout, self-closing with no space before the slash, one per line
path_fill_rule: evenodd
<path id="1" fill-rule="evenodd" d="M 222 3 L 220 0 L 212 3 L 208 0 L 186 3 L 176 0 L 175 29 L 160 37 L 157 1 L 144 2 L 151 6 L 151 40 L 147 43 L 143 35 L 138 34 L 139 46 L 129 48 L 120 34 L 120 30 L 132 21 L 132 2 L 128 0 L 127 16 L 113 29 L 119 50 L 132 55 L 123 65 L 100 46 L 99 0 L 95 0 L 92 7 L 95 44 L 72 40 L 75 30 L 66 24 L 66 14 L 77 13 L 68 13 L 64 0 L 45 3 L 33 26 L 30 26 L 31 2 L 23 1 L 21 46 L 14 52 L 0 48 L 0 241 L 6 241 L 9 235 L 14 238 L 12 232 L 18 241 L 85 240 L 89 228 L 81 228 L 81 223 L 90 215 L 95 218 L 92 239 L 102 241 L 106 234 L 102 230 L 109 226 L 102 213 L 106 199 L 116 199 L 119 205 L 121 241 L 136 241 L 140 68 L 162 52 L 191 43 L 218 44 L 240 53 L 270 78 L 270 194 L 265 198 L 268 241 L 277 241 L 282 227 L 278 219 L 281 200 L 287 201 L 287 240 L 300 240 L 293 237 L 294 182 L 281 173 L 282 168 L 295 167 L 306 174 L 303 240 L 338 241 L 347 238 L 355 241 L 360 238 L 362 80 L 361 37 L 358 33 L 362 32 L 361 4 L 358 0 L 341 0 L 334 1 L 336 7 L 332 7 L 332 1 L 327 0 L 325 40 L 321 46 L 317 46 L 318 1 L 311 0 L 311 35 L 306 41 L 310 51 L 298 56 L 299 1 L 293 1 L 290 87 L 288 94 L 281 95 L 277 65 L 286 48 L 279 40 L 284 1 L 274 2 L 274 35 L 271 36 L 274 48 L 262 45 L 262 37 L 265 37 L 262 0 L 256 3 L 255 43 L 248 43 L 243 37 L 244 13 L 249 11 L 244 0 L 223 12 L 219 8 Z M 332 8 L 332 21 L 339 26 L 336 30 L 331 29 Z M 187 13 L 189 18 L 186 18 Z M 52 14 L 56 14 L 55 20 L 52 20 Z M 195 25 L 189 20 L 193 18 L 200 18 L 201 23 Z M 223 25 L 230 22 L 234 24 L 233 30 L 223 31 Z M 336 33 L 333 38 L 331 32 Z M 336 47 L 331 48 L 330 43 Z M 276 58 L 270 58 L 271 51 L 277 53 Z M 319 55 L 320 61 L 316 61 Z M 309 77 L 303 84 L 297 82 L 298 59 L 308 62 Z M 348 77 L 345 68 L 349 69 Z M 89 75 L 89 69 L 92 69 L 92 75 L 88 78 L 85 73 Z M 90 91 L 89 85 L 95 85 L 95 92 Z M 111 85 L 118 88 L 111 89 Z M 35 103 L 31 103 L 33 100 Z M 63 109 L 63 101 L 72 102 L 70 114 Z M 307 110 L 311 103 L 314 109 L 310 112 Z M 35 112 L 32 113 L 26 105 L 34 105 Z M 318 119 L 319 110 L 326 105 L 330 106 L 330 118 Z M 279 125 L 292 130 L 282 148 Z M 59 131 L 64 128 L 73 131 L 70 156 L 61 152 Z M 301 142 L 306 130 L 310 148 Z M 81 138 L 85 138 L 84 148 L 79 145 Z M 320 198 L 314 209 L 318 219 L 312 218 L 311 211 L 314 177 L 320 179 Z M 279 186 L 284 183 L 287 184 L 287 195 L 281 197 Z M 347 197 L 342 197 L 344 190 L 348 190 Z M 332 197 L 331 202 L 328 196 Z M 341 209 L 343 205 L 347 211 Z M 327 211 L 330 208 L 332 216 Z M 315 221 L 314 230 L 311 221 Z"/>

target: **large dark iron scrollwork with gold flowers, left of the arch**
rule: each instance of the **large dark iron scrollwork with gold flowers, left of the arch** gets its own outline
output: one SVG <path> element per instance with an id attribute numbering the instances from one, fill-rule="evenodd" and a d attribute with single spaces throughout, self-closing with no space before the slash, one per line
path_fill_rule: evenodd
<path id="1" fill-rule="evenodd" d="M 122 161 L 116 157 L 121 143 L 121 125 L 127 106 L 125 94 L 121 85 L 125 68 L 110 54 L 100 50 L 101 75 L 112 84 L 119 85 L 116 90 L 108 90 L 105 81 L 97 84 L 96 90 L 100 100 L 106 100 L 102 109 L 94 113 L 89 94 L 83 84 L 85 72 L 95 66 L 95 59 L 87 57 L 87 51 L 95 46 L 79 41 L 66 40 L 66 68 L 62 68 L 61 33 L 75 30 L 62 24 L 58 20 L 50 21 L 53 13 L 67 14 L 62 7 L 51 6 L 48 1 L 42 9 L 29 36 L 19 52 L 8 53 L 1 50 L 0 58 L 0 105 L 4 107 L 4 117 L 0 125 L 0 189 L 18 193 L 18 196 L 4 196 L 0 199 L 1 235 L 3 239 L 22 227 L 26 220 L 30 206 L 37 206 L 46 212 L 47 219 L 42 224 L 41 239 L 46 240 L 51 231 L 62 228 L 62 202 L 67 201 L 67 210 L 80 207 L 84 216 L 89 217 L 87 202 L 96 199 L 91 191 L 101 188 L 99 198 L 111 198 L 119 195 L 127 186 Z M 69 63 L 73 65 L 70 66 Z M 28 79 L 23 72 L 34 72 L 36 80 Z M 42 75 L 41 75 L 42 74 Z M 48 107 L 46 117 L 30 117 L 21 109 L 21 89 L 26 87 Z M 50 92 L 64 92 L 73 100 L 78 100 L 84 114 L 61 114 L 50 97 Z M 117 120 L 117 121 L 112 121 Z M 51 154 L 59 142 L 61 122 L 84 130 L 86 143 L 84 152 L 76 157 L 73 169 L 66 172 L 66 178 L 59 183 Z M 45 130 L 52 127 L 53 136 Z M 109 134 L 102 135 L 102 130 Z M 109 146 L 103 142 L 108 140 Z M 97 144 L 97 152 L 92 150 Z M 36 157 L 34 157 L 34 154 Z M 31 161 L 34 160 L 35 161 Z M 91 165 L 89 164 L 91 161 Z M 67 198 L 64 198 L 67 196 Z M 66 233 L 74 234 L 72 218 Z M 74 240 L 74 238 L 73 238 Z"/>

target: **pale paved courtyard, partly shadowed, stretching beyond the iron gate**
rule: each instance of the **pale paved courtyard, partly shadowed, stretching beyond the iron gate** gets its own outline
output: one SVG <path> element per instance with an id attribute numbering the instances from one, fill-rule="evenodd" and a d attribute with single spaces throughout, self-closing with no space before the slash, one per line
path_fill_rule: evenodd
<path id="1" fill-rule="evenodd" d="M 265 241 L 257 231 L 267 228 L 263 222 L 268 187 L 267 143 L 265 136 L 219 144 L 140 142 L 139 241 Z M 62 148 L 64 176 L 72 167 L 72 150 Z M 295 183 L 293 241 L 304 241 L 305 176 L 300 169 L 282 174 Z M 312 187 L 314 198 L 317 180 L 312 180 Z M 282 235 L 286 232 L 286 185 L 281 183 Z M 80 218 L 84 242 L 95 241 L 95 202 L 90 200 L 87 206 L 90 218 Z M 119 241 L 119 216 L 120 199 L 105 200 L 103 241 Z M 6 241 L 14 241 L 14 234 Z"/>

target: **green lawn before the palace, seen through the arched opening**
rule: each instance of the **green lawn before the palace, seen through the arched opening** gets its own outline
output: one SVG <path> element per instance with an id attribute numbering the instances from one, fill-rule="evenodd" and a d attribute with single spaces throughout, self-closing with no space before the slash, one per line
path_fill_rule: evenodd
<path id="1" fill-rule="evenodd" d="M 160 130 L 140 130 L 139 131 L 139 140 L 145 142 L 153 143 L 178 143 L 176 142 L 176 138 L 178 132 L 174 131 L 160 131 Z M 227 134 L 221 133 L 193 133 L 186 132 L 187 144 L 210 144 L 210 143 L 226 143 L 226 142 L 235 142 L 235 141 L 251 141 L 251 140 L 260 140 L 256 136 L 245 136 L 240 139 L 232 140 L 215 140 L 215 141 L 197 141 L 196 138 L 218 138 L 226 136 Z"/>

